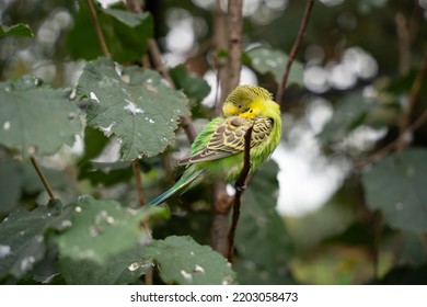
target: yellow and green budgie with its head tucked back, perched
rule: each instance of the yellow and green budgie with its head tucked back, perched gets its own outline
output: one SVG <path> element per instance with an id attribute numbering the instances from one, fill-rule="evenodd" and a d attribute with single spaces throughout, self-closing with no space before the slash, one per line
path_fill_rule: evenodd
<path id="1" fill-rule="evenodd" d="M 243 168 L 244 137 L 251 126 L 250 173 L 253 173 L 280 141 L 280 107 L 267 90 L 239 86 L 226 99 L 222 115 L 197 135 L 191 155 L 177 161 L 178 166 L 186 166 L 180 180 L 148 205 L 159 205 L 203 181 L 221 178 L 234 183 Z"/>

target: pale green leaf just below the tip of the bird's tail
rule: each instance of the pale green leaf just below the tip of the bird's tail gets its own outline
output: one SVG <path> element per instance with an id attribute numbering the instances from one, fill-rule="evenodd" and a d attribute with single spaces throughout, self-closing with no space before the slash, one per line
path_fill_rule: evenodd
<path id="1" fill-rule="evenodd" d="M 164 207 L 126 209 L 115 201 L 85 196 L 74 205 L 72 227 L 55 238 L 60 258 L 104 265 L 139 241 L 149 240 L 140 221 L 164 212 Z"/>

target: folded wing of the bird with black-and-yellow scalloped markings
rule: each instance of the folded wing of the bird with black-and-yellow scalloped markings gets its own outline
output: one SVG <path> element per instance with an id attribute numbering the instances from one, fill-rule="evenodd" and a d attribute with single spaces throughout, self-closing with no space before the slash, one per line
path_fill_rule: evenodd
<path id="1" fill-rule="evenodd" d="M 210 138 L 206 141 L 207 144 L 205 143 L 206 147 L 198 148 L 198 151 L 177 161 L 177 163 L 183 166 L 211 161 L 242 152 L 244 150 L 244 136 L 252 125 L 251 148 L 262 145 L 272 133 L 273 121 L 270 118 L 226 117 L 222 122 L 217 123 L 216 129 L 209 134 Z M 207 128 L 211 129 L 212 127 L 208 125 Z"/>

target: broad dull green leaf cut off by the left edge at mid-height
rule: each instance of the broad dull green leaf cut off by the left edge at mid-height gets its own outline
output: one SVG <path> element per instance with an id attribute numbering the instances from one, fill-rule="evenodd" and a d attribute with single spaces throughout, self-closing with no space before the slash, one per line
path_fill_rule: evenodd
<path id="1" fill-rule="evenodd" d="M 41 80 L 24 76 L 0 83 L 0 139 L 19 148 L 23 157 L 35 152 L 55 154 L 62 145 L 72 145 L 82 122 L 69 91 L 42 86 Z"/>

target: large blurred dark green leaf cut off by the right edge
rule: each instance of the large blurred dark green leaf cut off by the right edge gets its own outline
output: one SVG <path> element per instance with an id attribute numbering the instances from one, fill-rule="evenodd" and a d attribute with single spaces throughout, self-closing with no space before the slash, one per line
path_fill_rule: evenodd
<path id="1" fill-rule="evenodd" d="M 382 212 L 393 228 L 427 230 L 427 150 L 414 148 L 389 156 L 362 172 L 370 209 Z"/>

